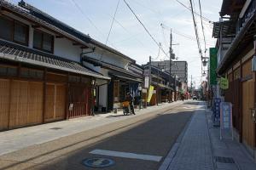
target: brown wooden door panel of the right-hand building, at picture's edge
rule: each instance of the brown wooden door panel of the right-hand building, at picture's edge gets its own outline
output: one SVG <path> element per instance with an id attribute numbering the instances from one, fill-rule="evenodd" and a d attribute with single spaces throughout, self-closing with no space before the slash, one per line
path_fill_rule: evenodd
<path id="1" fill-rule="evenodd" d="M 253 79 L 242 82 L 242 140 L 249 146 L 255 144 L 255 126 L 251 108 L 253 108 Z"/>

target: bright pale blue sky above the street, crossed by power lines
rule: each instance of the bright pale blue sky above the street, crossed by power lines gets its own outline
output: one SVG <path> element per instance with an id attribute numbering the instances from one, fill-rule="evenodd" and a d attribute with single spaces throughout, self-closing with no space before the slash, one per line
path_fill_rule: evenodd
<path id="1" fill-rule="evenodd" d="M 189 7 L 189 0 L 179 1 Z M 9 2 L 18 3 L 19 0 L 9 0 Z M 201 77 L 201 56 L 195 41 L 191 11 L 177 3 L 177 0 L 126 0 L 150 35 L 161 44 L 166 54 L 161 50 L 159 53 L 159 46 L 131 13 L 124 0 L 25 0 L 25 2 L 89 34 L 99 42 L 106 43 L 108 39 L 108 46 L 135 59 L 139 65 L 147 63 L 149 56 L 152 56 L 153 60 L 168 59 L 166 54 L 169 54 L 172 28 L 172 43 L 176 44 L 172 48 L 177 60 L 188 62 L 189 82 L 191 75 L 195 85 L 199 85 L 205 78 Z M 198 2 L 194 0 L 195 12 L 199 14 Z M 222 0 L 201 0 L 202 16 L 211 21 L 218 21 L 221 4 Z M 200 16 L 195 16 L 201 48 L 204 52 L 201 20 Z M 113 26 L 110 31 L 112 21 Z M 212 38 L 212 24 L 203 20 L 203 26 L 206 48 L 214 47 L 216 41 Z M 208 50 L 206 56 L 209 56 Z"/>

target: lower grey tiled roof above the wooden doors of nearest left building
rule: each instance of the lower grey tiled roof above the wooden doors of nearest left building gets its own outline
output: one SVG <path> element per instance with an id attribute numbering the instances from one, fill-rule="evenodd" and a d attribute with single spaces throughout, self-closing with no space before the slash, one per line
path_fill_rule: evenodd
<path id="1" fill-rule="evenodd" d="M 97 73 L 96 71 L 91 71 L 72 60 L 62 59 L 61 57 L 52 54 L 46 54 L 32 48 L 21 47 L 9 42 L 0 41 L 0 58 L 25 62 L 32 65 L 41 65 L 48 68 L 69 71 L 90 77 L 110 79 L 109 77 L 104 77 L 102 74 Z"/>

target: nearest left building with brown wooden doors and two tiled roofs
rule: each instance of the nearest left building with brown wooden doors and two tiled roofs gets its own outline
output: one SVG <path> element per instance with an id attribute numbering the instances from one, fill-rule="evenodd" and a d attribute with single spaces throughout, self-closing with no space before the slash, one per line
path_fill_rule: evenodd
<path id="1" fill-rule="evenodd" d="M 79 62 L 88 43 L 20 7 L 0 1 L 0 131 L 90 115 L 93 82 L 110 78 Z"/>

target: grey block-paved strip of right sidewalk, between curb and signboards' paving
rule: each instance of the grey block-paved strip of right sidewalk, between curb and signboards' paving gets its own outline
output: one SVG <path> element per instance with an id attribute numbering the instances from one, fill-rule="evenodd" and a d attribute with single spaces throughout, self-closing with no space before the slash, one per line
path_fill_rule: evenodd
<path id="1" fill-rule="evenodd" d="M 167 156 L 169 162 L 164 161 L 160 170 L 213 170 L 207 118 L 202 105 L 198 105 L 195 115 L 182 135 L 182 139 L 177 139 L 177 143 Z"/>

